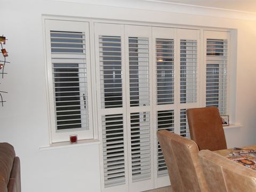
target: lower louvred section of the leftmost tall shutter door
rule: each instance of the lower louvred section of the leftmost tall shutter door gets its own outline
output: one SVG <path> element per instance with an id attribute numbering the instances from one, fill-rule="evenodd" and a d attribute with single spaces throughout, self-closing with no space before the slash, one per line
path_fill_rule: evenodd
<path id="1" fill-rule="evenodd" d="M 102 116 L 104 185 L 125 184 L 123 115 Z"/>

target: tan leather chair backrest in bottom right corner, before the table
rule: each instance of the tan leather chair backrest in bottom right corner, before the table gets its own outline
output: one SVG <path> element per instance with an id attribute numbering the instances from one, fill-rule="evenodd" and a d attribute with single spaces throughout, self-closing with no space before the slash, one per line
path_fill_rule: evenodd
<path id="1" fill-rule="evenodd" d="M 199 158 L 210 191 L 256 191 L 256 171 L 210 150 L 199 151 Z"/>

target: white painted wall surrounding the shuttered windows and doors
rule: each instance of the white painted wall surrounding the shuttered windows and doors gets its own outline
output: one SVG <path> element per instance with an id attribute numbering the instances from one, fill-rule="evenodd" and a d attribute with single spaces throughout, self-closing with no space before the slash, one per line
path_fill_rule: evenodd
<path id="1" fill-rule="evenodd" d="M 11 64 L 5 68 L 9 74 L 0 85 L 0 90 L 9 92 L 0 108 L 0 141 L 10 142 L 21 158 L 22 191 L 100 191 L 97 145 L 39 150 L 49 145 L 42 14 L 237 29 L 237 86 L 231 95 L 236 110 L 231 112 L 236 114 L 236 123 L 244 126 L 225 133 L 229 147 L 256 144 L 255 21 L 43 0 L 2 0 L 0 35 L 9 39 L 6 49 Z"/>

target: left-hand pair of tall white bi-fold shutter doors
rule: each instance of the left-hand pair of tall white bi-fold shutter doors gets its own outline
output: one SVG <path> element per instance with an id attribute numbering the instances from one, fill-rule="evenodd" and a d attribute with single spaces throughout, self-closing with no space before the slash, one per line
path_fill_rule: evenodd
<path id="1" fill-rule="evenodd" d="M 151 27 L 94 29 L 102 191 L 152 189 Z"/>

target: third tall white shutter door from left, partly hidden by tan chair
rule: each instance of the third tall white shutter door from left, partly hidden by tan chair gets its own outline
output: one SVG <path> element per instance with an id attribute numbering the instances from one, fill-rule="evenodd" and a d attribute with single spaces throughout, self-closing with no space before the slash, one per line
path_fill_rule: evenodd
<path id="1" fill-rule="evenodd" d="M 153 110 L 155 147 L 155 187 L 170 185 L 167 167 L 156 132 L 174 132 L 177 103 L 175 89 L 175 29 L 153 27 Z"/>

